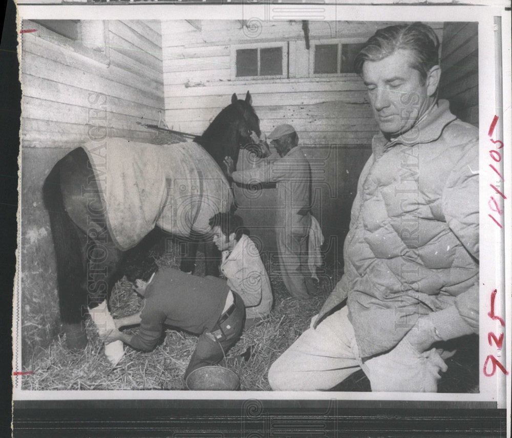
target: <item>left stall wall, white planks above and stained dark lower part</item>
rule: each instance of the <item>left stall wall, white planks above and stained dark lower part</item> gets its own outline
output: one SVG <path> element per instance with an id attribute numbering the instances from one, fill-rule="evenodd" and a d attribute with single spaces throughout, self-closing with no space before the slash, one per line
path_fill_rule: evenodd
<path id="1" fill-rule="evenodd" d="M 69 23 L 70 25 L 71 22 Z M 42 184 L 53 165 L 89 136 L 151 140 L 136 124 L 163 110 L 159 21 L 93 21 L 71 41 L 33 21 L 22 34 L 20 255 L 22 361 L 59 332 L 55 256 Z M 106 37 L 105 37 L 106 36 Z M 107 127 L 106 132 L 104 127 Z M 99 143 L 101 144 L 101 143 Z"/>

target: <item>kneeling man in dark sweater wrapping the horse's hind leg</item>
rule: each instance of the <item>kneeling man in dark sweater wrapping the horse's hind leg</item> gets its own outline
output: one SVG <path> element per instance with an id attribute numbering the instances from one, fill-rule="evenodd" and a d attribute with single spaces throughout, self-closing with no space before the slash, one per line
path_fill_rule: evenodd
<path id="1" fill-rule="evenodd" d="M 104 337 L 105 343 L 119 339 L 138 350 L 152 351 L 164 324 L 199 335 L 185 379 L 197 368 L 219 363 L 242 335 L 244 302 L 221 278 L 166 267 L 148 281 L 137 279 L 134 289 L 144 297 L 143 309 L 115 319 L 116 329 Z M 119 331 L 137 324 L 140 329 L 135 335 Z"/>

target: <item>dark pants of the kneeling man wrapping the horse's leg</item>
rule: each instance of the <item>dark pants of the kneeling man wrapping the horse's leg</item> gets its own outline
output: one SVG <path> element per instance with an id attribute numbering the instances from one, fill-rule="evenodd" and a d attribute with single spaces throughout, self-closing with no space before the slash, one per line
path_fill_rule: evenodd
<path id="1" fill-rule="evenodd" d="M 224 359 L 229 348 L 236 344 L 242 336 L 245 319 L 244 301 L 235 292 L 233 292 L 233 297 L 236 309 L 231 315 L 214 327 L 211 332 L 206 331 L 199 336 L 196 349 L 185 371 L 185 379 L 197 368 L 219 363 Z M 219 328 L 221 331 L 218 330 Z M 219 335 L 220 338 L 217 337 Z"/>

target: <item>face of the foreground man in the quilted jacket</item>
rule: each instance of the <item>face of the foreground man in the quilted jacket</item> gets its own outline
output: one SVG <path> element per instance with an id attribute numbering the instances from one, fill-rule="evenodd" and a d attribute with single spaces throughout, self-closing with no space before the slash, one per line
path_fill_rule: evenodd
<path id="1" fill-rule="evenodd" d="M 362 67 L 375 120 L 391 137 L 411 129 L 435 101 L 439 68 L 433 67 L 423 81 L 411 63 L 411 51 L 400 49 L 380 61 L 365 61 Z"/>

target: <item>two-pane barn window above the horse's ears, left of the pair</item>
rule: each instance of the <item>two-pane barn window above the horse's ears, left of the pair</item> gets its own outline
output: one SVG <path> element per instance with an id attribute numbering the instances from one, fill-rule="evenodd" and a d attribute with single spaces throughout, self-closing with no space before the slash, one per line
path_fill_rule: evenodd
<path id="1" fill-rule="evenodd" d="M 233 48 L 234 78 L 279 78 L 286 74 L 287 53 L 275 43 Z"/>

